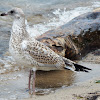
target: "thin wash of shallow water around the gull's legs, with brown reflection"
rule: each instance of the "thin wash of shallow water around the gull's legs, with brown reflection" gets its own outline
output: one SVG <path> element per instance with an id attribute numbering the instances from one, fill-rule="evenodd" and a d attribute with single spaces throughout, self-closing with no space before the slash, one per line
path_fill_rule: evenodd
<path id="1" fill-rule="evenodd" d="M 37 71 L 36 95 L 47 95 L 57 89 L 67 88 L 72 84 L 84 82 L 100 76 L 100 64 L 84 63 L 82 65 L 92 69 L 89 73 L 64 71 Z M 0 75 L 0 99 L 30 98 L 28 93 L 29 69 Z"/>

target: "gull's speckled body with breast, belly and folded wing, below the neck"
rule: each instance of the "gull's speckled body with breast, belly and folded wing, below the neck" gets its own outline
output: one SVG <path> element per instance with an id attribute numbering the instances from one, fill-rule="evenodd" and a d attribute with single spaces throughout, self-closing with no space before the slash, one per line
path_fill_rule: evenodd
<path id="1" fill-rule="evenodd" d="M 19 39 L 12 38 L 9 47 L 15 60 L 26 67 L 36 67 L 37 70 L 63 69 L 65 67 L 65 63 L 59 55 L 35 39 L 26 38 L 19 42 Z M 41 67 L 45 67 L 45 69 Z"/>

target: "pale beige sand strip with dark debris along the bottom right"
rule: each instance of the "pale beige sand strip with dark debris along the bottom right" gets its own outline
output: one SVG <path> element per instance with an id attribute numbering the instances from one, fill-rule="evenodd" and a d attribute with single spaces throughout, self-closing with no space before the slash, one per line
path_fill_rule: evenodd
<path id="1" fill-rule="evenodd" d="M 86 82 L 76 83 L 67 88 L 58 89 L 49 95 L 34 96 L 21 100 L 99 100 L 100 83 L 96 83 L 100 77 Z"/>

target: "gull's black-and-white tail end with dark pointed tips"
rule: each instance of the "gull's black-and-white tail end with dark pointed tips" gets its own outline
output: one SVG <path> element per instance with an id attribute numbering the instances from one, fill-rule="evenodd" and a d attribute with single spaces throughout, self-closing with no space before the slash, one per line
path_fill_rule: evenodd
<path id="1" fill-rule="evenodd" d="M 87 67 L 84 67 L 84 66 L 82 66 L 82 65 L 79 65 L 79 64 L 77 64 L 77 63 L 75 63 L 75 62 L 73 62 L 73 61 L 71 61 L 71 60 L 69 60 L 69 59 L 67 59 L 67 58 L 64 58 L 63 57 L 63 60 L 64 60 L 64 62 L 65 62 L 65 64 L 66 64 L 66 69 L 70 69 L 70 70 L 74 70 L 74 71 L 82 71 L 82 72 L 88 72 L 89 70 L 91 70 L 90 68 L 87 68 Z"/>

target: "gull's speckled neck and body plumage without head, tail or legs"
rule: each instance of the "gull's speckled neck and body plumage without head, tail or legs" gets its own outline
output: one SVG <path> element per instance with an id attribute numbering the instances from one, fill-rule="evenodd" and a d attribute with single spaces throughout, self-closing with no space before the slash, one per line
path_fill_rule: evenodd
<path id="1" fill-rule="evenodd" d="M 62 57 L 29 36 L 24 15 L 13 22 L 9 51 L 18 64 L 25 67 L 36 67 L 37 70 L 58 70 L 66 66 Z"/>

